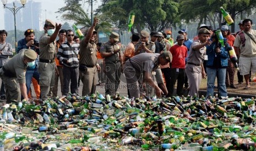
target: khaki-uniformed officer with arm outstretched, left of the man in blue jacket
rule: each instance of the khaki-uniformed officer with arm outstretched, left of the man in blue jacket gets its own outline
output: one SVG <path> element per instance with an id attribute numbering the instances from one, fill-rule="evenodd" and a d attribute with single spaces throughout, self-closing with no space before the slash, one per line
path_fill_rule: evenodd
<path id="1" fill-rule="evenodd" d="M 203 62 L 207 59 L 205 46 L 211 44 L 208 40 L 210 38 L 210 34 L 211 32 L 209 30 L 201 28 L 198 31 L 199 39 L 194 40 L 190 45 L 188 61 L 185 67 L 186 74 L 188 76 L 190 96 L 194 96 L 195 94 L 198 96 L 201 78 L 205 78 Z"/>

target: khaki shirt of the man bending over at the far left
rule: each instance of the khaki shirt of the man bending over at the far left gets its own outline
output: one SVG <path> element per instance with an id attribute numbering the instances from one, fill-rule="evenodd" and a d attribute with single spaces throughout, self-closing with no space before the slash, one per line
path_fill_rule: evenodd
<path id="1" fill-rule="evenodd" d="M 18 83 L 26 83 L 26 68 L 28 67 L 24 62 L 24 50 L 20 50 L 20 52 L 12 57 L 6 64 L 4 64 L 4 68 L 13 74 L 13 77 L 17 77 Z"/>

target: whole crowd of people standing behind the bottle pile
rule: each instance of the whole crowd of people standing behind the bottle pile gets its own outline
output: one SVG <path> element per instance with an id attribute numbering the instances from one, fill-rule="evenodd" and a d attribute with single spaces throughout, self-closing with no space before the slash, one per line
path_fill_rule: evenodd
<path id="1" fill-rule="evenodd" d="M 252 30 L 250 19 L 239 22 L 241 31 L 235 36 L 228 26 L 221 26 L 224 42 L 217 37 L 217 30 L 204 24 L 193 40 L 188 39 L 186 30 L 178 31 L 176 43 L 171 31 L 143 30 L 132 34 L 124 52 L 116 32 L 110 34 L 106 43 L 96 43 L 98 22 L 95 18 L 80 39 L 74 31 L 61 29 L 61 24 L 46 19 L 45 33 L 38 41 L 34 30 L 24 32 L 15 56 L 12 45 L 6 42 L 7 32 L 1 30 L 1 99 L 7 103 L 29 100 L 32 83 L 36 97 L 45 101 L 48 97 L 57 97 L 59 81 L 62 95 L 69 92 L 79 95 L 80 80 L 83 83 L 80 95 L 91 95 L 96 90 L 96 79 L 99 79 L 98 85 L 106 83 L 105 95 L 115 95 L 121 73 L 125 75 L 129 97 L 181 96 L 183 90 L 189 90 L 189 95 L 198 95 L 201 79 L 206 75 L 206 96 L 214 95 L 217 78 L 218 94 L 226 97 L 226 88 L 237 89 L 235 67 L 228 54 L 232 47 L 239 59 L 238 84 L 243 82 L 241 76 L 244 75 L 244 89 L 250 88 L 250 72 L 256 71 L 256 31 Z M 176 82 L 177 94 L 174 94 Z"/>

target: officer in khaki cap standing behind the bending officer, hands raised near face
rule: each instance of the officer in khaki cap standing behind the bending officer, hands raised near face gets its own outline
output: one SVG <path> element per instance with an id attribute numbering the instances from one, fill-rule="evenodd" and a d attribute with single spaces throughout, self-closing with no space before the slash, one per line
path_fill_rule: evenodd
<path id="1" fill-rule="evenodd" d="M 141 53 L 155 53 L 156 46 L 154 42 L 149 41 L 149 32 L 140 32 L 140 42 L 135 45 L 134 54 L 138 55 Z"/>

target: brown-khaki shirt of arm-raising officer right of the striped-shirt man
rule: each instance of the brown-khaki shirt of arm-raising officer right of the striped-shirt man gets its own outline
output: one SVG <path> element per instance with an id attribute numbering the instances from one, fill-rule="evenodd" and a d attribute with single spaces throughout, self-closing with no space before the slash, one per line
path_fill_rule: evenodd
<path id="1" fill-rule="evenodd" d="M 79 65 L 96 66 L 97 64 L 97 47 L 95 43 L 80 42 Z"/>

